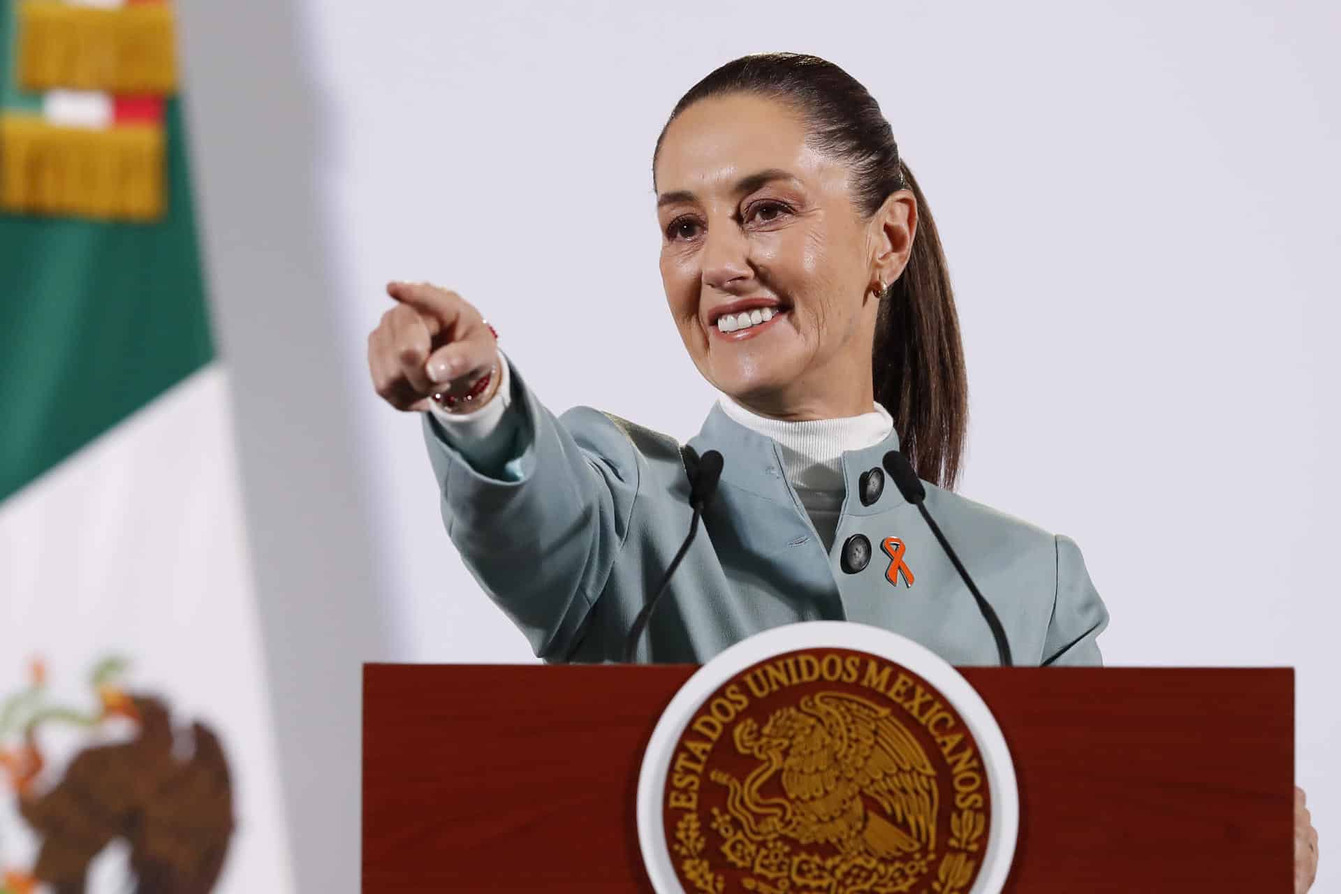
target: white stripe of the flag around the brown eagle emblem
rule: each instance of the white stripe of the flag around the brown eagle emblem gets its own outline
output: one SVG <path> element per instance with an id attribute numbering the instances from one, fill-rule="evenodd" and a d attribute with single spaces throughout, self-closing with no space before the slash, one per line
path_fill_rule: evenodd
<path id="1" fill-rule="evenodd" d="M 288 894 L 260 635 L 219 363 L 0 504 L 0 701 L 25 688 L 27 659 L 40 657 L 55 701 L 93 706 L 93 663 L 127 658 L 129 690 L 160 696 L 176 726 L 200 721 L 224 748 L 236 830 L 215 890 Z M 44 726 L 43 784 L 94 741 Z M 0 870 L 31 869 L 35 847 L 0 777 Z"/>

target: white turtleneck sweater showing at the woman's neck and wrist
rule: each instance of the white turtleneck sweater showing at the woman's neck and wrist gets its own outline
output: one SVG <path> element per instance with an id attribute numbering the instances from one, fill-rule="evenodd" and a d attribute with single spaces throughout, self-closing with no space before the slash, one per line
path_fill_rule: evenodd
<path id="1" fill-rule="evenodd" d="M 508 413 L 512 403 L 508 362 L 499 353 L 500 382 L 498 394 L 479 410 L 453 414 L 433 405 L 433 417 L 452 445 L 476 468 L 493 468 L 506 460 L 512 446 L 516 413 Z M 782 453 L 782 472 L 801 497 L 815 532 L 825 548 L 833 548 L 838 515 L 846 496 L 842 454 L 862 450 L 884 441 L 894 428 L 894 421 L 880 403 L 870 413 L 838 420 L 787 422 L 752 413 L 727 395 L 717 401 L 721 410 L 740 425 L 778 442 Z"/>

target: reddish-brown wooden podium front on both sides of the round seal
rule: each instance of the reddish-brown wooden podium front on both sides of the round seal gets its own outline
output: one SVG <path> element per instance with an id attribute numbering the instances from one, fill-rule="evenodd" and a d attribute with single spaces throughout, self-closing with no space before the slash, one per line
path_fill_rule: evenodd
<path id="1" fill-rule="evenodd" d="M 642 751 L 692 665 L 366 665 L 362 890 L 652 891 Z M 1019 780 L 1006 891 L 1293 891 L 1294 670 L 961 667 Z"/>

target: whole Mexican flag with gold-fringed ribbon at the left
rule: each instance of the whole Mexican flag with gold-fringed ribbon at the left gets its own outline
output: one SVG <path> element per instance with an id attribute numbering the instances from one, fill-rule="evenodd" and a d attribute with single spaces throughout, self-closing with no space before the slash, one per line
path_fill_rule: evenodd
<path id="1" fill-rule="evenodd" d="M 0 0 L 0 891 L 291 891 L 164 3 Z"/>

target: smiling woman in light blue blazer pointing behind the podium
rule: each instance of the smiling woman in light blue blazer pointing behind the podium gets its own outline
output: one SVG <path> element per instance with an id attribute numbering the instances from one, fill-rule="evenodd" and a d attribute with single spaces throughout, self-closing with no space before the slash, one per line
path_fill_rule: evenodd
<path id="1" fill-rule="evenodd" d="M 897 449 L 1015 663 L 1098 665 L 1108 611 L 1075 544 L 951 491 L 967 428 L 955 303 L 870 94 L 814 56 L 731 62 L 675 107 L 653 185 L 670 316 L 723 393 L 689 446 L 724 468 L 637 658 L 701 662 L 759 630 L 849 619 L 996 663 L 974 596 L 884 474 Z M 465 299 L 388 292 L 373 381 L 424 413 L 452 541 L 536 655 L 617 661 L 689 532 L 693 454 L 587 407 L 555 418 Z M 1306 887 L 1317 839 L 1297 820 Z"/>

